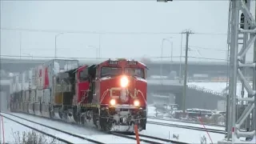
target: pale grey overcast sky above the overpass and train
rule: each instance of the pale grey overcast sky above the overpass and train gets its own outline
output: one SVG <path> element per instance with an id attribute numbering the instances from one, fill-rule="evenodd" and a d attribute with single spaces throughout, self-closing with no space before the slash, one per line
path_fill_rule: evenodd
<path id="1" fill-rule="evenodd" d="M 190 61 L 226 58 L 228 1 L 1 1 L 1 27 L 12 29 L 179 33 L 190 29 Z M 207 33 L 207 34 L 197 34 Z M 57 33 L 1 30 L 1 55 L 54 57 Z M 95 58 L 160 57 L 162 38 L 172 37 L 173 60 L 179 61 L 181 34 L 68 34 L 57 38 L 57 56 Z M 183 46 L 186 38 L 183 37 Z M 100 44 L 99 44 L 100 43 Z M 208 50 L 206 50 L 208 49 Z M 209 50 L 210 49 L 210 50 Z M 250 50 L 252 52 L 252 49 Z M 182 52 L 184 55 L 185 51 Z M 163 56 L 171 44 L 164 42 Z M 248 58 L 252 59 L 252 53 Z M 170 59 L 170 58 L 169 58 Z M 160 58 L 154 58 L 160 60 Z M 208 60 L 210 61 L 210 60 Z M 217 60 L 214 60 L 217 61 Z"/>

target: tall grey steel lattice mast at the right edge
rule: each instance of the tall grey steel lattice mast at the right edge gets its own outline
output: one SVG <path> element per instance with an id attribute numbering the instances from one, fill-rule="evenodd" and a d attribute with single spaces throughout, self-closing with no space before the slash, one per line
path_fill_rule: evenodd
<path id="1" fill-rule="evenodd" d="M 157 0 L 168 2 L 172 0 Z M 253 17 L 250 7 L 254 7 Z M 229 93 L 226 106 L 226 139 L 218 143 L 239 143 L 236 138 L 251 139 L 256 130 L 256 2 L 251 0 L 230 0 L 228 19 L 228 45 L 230 47 L 229 60 Z M 240 42 L 239 40 L 242 40 Z M 246 53 L 254 47 L 253 62 L 246 61 Z M 241 47 L 239 49 L 238 47 Z M 246 79 L 246 73 L 252 70 L 253 86 Z M 237 97 L 238 80 L 242 83 L 241 98 Z M 245 95 L 244 89 L 248 95 Z M 242 111 L 237 110 L 244 108 Z M 245 126 L 242 126 L 245 124 Z M 246 128 L 246 131 L 242 130 Z M 243 142 L 246 143 L 246 142 Z"/>

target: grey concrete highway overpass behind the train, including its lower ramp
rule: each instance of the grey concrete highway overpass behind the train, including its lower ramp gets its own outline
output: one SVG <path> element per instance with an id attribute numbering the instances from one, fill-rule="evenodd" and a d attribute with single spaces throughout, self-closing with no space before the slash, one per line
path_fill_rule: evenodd
<path id="1" fill-rule="evenodd" d="M 7 72 L 22 72 L 23 70 L 29 70 L 30 68 L 42 64 L 47 60 L 31 60 L 31 59 L 1 59 L 1 69 Z M 80 61 L 80 64 L 93 64 L 101 61 Z M 149 67 L 148 75 L 159 75 L 160 66 L 162 67 L 162 74 L 168 75 L 170 71 L 176 71 L 179 74 L 180 63 L 179 62 L 145 62 Z M 182 70 L 184 64 L 182 63 Z M 189 76 L 193 74 L 210 74 L 225 75 L 226 76 L 226 64 L 217 62 L 189 62 L 188 63 Z M 3 83 L 2 83 L 3 84 Z M 182 83 L 178 80 L 162 80 L 162 79 L 148 79 L 148 101 L 154 102 L 154 98 L 150 97 L 152 94 L 173 94 L 175 96 L 175 103 L 179 106 L 182 105 Z M 6 88 L 7 90 L 7 88 Z M 203 90 L 198 87 L 188 86 L 186 94 L 186 108 L 202 108 L 202 109 L 216 109 L 219 100 L 225 99 L 225 96 L 218 94 L 211 90 Z M 182 106 L 181 106 L 182 107 Z"/>

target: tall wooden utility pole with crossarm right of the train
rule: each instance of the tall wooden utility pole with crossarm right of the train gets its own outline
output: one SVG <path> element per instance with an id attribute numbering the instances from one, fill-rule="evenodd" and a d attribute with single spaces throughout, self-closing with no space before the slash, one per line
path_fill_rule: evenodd
<path id="1" fill-rule="evenodd" d="M 182 32 L 182 34 L 186 34 L 186 56 L 185 56 L 185 72 L 184 72 L 184 85 L 183 85 L 183 96 L 182 96 L 182 110 L 183 110 L 183 116 L 185 116 L 185 110 L 186 110 L 186 81 L 187 81 L 187 55 L 189 51 L 189 37 L 191 31 L 187 30 L 186 32 Z"/>

